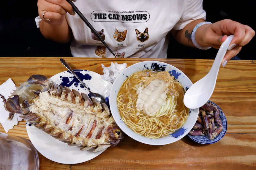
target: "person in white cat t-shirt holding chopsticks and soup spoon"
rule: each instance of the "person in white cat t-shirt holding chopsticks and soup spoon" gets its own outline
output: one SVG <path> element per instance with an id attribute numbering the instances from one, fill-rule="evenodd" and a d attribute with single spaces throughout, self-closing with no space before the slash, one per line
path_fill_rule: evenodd
<path id="1" fill-rule="evenodd" d="M 232 20 L 205 22 L 203 0 L 74 2 L 115 57 L 166 58 L 170 34 L 181 44 L 201 49 L 219 48 L 234 34 L 222 65 L 236 56 L 255 35 L 247 25 Z M 52 41 L 71 40 L 74 57 L 114 57 L 66 0 L 38 0 L 37 27 Z"/>

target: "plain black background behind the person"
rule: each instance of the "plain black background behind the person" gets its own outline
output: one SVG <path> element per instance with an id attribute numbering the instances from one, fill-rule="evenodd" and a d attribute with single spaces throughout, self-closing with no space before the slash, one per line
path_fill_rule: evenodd
<path id="1" fill-rule="evenodd" d="M 252 1 L 239 3 L 225 0 L 204 0 L 207 21 L 232 19 L 255 28 L 255 6 Z M 59 44 L 46 40 L 35 24 L 38 16 L 37 0 L 6 0 L 0 6 L 0 56 L 72 56 L 70 43 Z M 255 37 L 242 48 L 240 59 L 255 59 Z M 185 47 L 170 39 L 168 58 L 214 59 L 217 49 L 200 50 Z"/>

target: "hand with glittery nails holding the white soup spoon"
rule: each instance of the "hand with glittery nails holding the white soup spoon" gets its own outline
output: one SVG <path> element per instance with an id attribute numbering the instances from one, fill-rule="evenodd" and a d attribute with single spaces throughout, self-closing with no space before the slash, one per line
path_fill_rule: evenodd
<path id="1" fill-rule="evenodd" d="M 225 67 L 227 61 L 236 56 L 242 46 L 245 46 L 255 35 L 255 31 L 248 25 L 243 25 L 232 20 L 221 20 L 213 24 L 208 24 L 202 32 L 202 41 L 205 46 L 219 48 L 228 35 L 234 35 L 229 48 L 222 60 Z"/>

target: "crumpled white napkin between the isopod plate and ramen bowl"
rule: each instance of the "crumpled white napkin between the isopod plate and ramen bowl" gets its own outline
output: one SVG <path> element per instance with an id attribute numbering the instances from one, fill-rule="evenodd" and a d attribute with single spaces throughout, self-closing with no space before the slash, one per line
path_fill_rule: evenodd
<path id="1" fill-rule="evenodd" d="M 101 75 L 101 78 L 103 80 L 109 81 L 111 83 L 113 83 L 116 80 L 116 77 L 124 70 L 126 69 L 127 64 L 123 63 L 123 64 L 118 64 L 113 63 L 111 61 L 110 67 L 105 67 L 103 64 L 101 64 L 102 68 L 103 68 L 103 75 Z"/>

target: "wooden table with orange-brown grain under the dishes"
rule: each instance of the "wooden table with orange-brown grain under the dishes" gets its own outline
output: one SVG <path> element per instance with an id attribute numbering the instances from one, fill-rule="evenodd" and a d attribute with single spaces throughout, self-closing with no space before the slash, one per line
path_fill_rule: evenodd
<path id="1" fill-rule="evenodd" d="M 204 77 L 213 60 L 200 59 L 94 59 L 65 58 L 73 69 L 102 73 L 111 61 L 127 66 L 145 60 L 172 64 L 193 83 Z M 96 158 L 79 164 L 60 164 L 39 154 L 40 170 L 113 170 L 113 169 L 256 169 L 256 61 L 229 61 L 220 67 L 211 101 L 217 103 L 227 118 L 227 133 L 217 143 L 198 144 L 189 137 L 163 146 L 139 143 L 128 136 Z M 18 85 L 30 75 L 51 77 L 66 68 L 59 58 L 0 58 L 0 84 L 9 77 Z M 0 132 L 5 133 L 0 125 Z M 24 121 L 7 134 L 29 139 Z"/>

